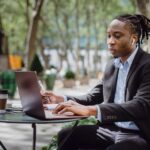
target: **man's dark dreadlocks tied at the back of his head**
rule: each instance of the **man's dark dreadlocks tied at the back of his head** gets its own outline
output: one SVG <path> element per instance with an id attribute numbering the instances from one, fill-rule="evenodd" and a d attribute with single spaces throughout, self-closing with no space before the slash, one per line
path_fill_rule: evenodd
<path id="1" fill-rule="evenodd" d="M 129 27 L 131 28 L 132 33 L 135 33 L 138 35 L 138 41 L 137 44 L 140 46 L 140 44 L 143 43 L 143 40 L 148 40 L 150 36 L 150 19 L 143 15 L 139 14 L 126 14 L 126 15 L 120 15 L 116 17 L 115 19 L 126 22 Z"/>

